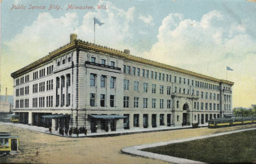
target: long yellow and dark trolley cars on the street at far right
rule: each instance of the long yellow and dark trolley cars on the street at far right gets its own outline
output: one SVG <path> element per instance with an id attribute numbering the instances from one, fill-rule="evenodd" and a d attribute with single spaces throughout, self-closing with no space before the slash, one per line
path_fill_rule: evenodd
<path id="1" fill-rule="evenodd" d="M 208 128 L 229 127 L 237 125 L 256 124 L 256 117 L 220 118 L 208 122 Z"/>

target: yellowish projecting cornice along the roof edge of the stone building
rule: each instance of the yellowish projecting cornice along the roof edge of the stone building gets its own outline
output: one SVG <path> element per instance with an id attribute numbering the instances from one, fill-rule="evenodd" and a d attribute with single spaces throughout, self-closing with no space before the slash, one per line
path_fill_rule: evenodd
<path id="1" fill-rule="evenodd" d="M 224 84 L 228 84 L 228 85 L 234 85 L 233 82 L 228 81 L 228 80 L 223 80 L 223 79 L 218 79 L 218 78 L 206 76 L 206 75 L 203 75 L 203 74 L 200 74 L 200 73 L 195 73 L 195 72 L 184 70 L 184 69 L 181 69 L 181 68 L 178 68 L 178 67 L 173 67 L 173 66 L 170 66 L 170 65 L 159 63 L 157 61 L 153 61 L 153 60 L 149 60 L 149 59 L 146 59 L 146 58 L 126 54 L 123 51 L 119 51 L 119 50 L 108 48 L 108 47 L 101 46 L 101 45 L 95 45 L 95 44 L 92 44 L 92 43 L 89 43 L 89 42 L 85 42 L 81 39 L 74 40 L 73 42 L 70 42 L 67 45 L 64 45 L 64 46 L 62 46 L 62 47 L 60 47 L 60 48 L 58 48 L 58 49 L 56 49 L 52 52 L 49 52 L 49 55 L 34 61 L 30 65 L 28 65 L 28 66 L 26 66 L 22 69 L 19 69 L 19 70 L 13 72 L 11 74 L 11 76 L 13 78 L 15 78 L 15 77 L 17 77 L 21 74 L 24 74 L 25 72 L 29 71 L 30 69 L 40 67 L 43 64 L 45 64 L 47 61 L 50 61 L 51 59 L 53 59 L 55 57 L 58 57 L 61 54 L 65 53 L 65 52 L 68 52 L 70 50 L 73 50 L 73 49 L 82 49 L 82 50 L 84 49 L 84 50 L 94 51 L 94 52 L 97 52 L 97 53 L 109 54 L 109 55 L 112 55 L 112 56 L 115 56 L 115 57 L 120 57 L 124 60 L 134 61 L 134 62 L 137 62 L 137 63 L 149 65 L 149 66 L 154 66 L 154 67 L 158 67 L 158 68 L 162 68 L 162 69 L 167 69 L 167 70 L 170 70 L 170 71 L 174 71 L 174 72 L 178 72 L 178 73 L 182 73 L 182 74 L 187 74 L 187 75 L 194 76 L 194 77 L 199 77 L 199 78 L 203 78 L 203 79 L 206 79 L 206 80 L 211 80 L 211 81 L 214 81 L 214 82 L 217 82 L 217 83 L 224 83 Z"/>

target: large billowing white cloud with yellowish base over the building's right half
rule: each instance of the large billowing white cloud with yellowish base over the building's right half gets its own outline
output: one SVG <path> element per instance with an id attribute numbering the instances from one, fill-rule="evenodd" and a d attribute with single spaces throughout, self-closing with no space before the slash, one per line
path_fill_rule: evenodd
<path id="1" fill-rule="evenodd" d="M 143 56 L 172 66 L 234 81 L 233 105 L 250 106 L 256 97 L 256 40 L 245 24 L 228 22 L 220 11 L 211 11 L 200 21 L 171 13 L 159 27 L 157 42 Z M 244 88 L 249 97 L 242 95 Z"/>

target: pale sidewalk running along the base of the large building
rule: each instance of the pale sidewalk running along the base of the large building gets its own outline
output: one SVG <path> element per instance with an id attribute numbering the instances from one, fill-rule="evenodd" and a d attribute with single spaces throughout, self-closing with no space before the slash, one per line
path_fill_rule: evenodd
<path id="1" fill-rule="evenodd" d="M 19 127 L 19 128 L 25 128 L 25 129 L 49 134 L 49 129 L 44 128 L 44 127 L 29 126 L 26 124 L 14 124 L 12 122 L 0 122 L 0 125 L 8 125 L 8 126 L 14 126 L 14 127 Z M 208 126 L 208 124 L 199 125 L 199 127 L 207 127 L 207 126 Z M 79 134 L 79 137 L 106 137 L 106 136 L 117 136 L 117 135 L 135 134 L 135 133 L 147 133 L 147 132 L 168 131 L 168 130 L 177 130 L 177 129 L 189 129 L 189 128 L 192 128 L 192 126 L 159 127 L 159 128 L 145 128 L 145 129 L 131 129 L 131 130 L 127 129 L 127 130 L 119 130 L 119 131 L 87 133 L 87 135 L 81 133 L 81 134 Z M 55 130 L 52 130 L 51 135 L 62 136 L 58 133 L 58 131 L 55 131 Z M 64 135 L 62 137 L 68 137 L 68 136 Z M 72 137 L 76 137 L 76 134 L 72 134 Z"/>

